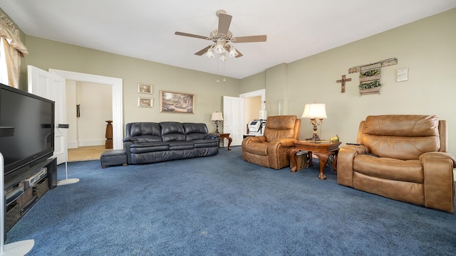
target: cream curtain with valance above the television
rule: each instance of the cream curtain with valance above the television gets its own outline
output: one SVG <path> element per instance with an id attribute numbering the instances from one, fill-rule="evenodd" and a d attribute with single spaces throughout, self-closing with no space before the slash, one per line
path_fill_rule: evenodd
<path id="1" fill-rule="evenodd" d="M 8 70 L 9 86 L 19 88 L 21 58 L 28 54 L 26 46 L 21 42 L 19 30 L 14 27 L 4 14 L 0 14 L 0 39 L 2 41 L 6 67 Z M 4 65 L 4 63 L 1 63 Z"/>

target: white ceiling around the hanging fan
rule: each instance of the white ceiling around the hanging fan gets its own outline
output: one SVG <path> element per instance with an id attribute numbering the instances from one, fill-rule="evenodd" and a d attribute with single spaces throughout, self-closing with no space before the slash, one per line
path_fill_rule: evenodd
<path id="1" fill-rule="evenodd" d="M 215 12 L 232 15 L 233 36 L 267 35 L 264 43 L 235 43 L 224 73 L 245 78 L 390 28 L 456 7 L 456 0 L 0 0 L 31 36 L 207 73 L 217 60 L 194 53 L 211 41 Z M 386 56 L 389 57 L 389 56 Z M 50 67 L 52 68 L 52 67 Z"/>

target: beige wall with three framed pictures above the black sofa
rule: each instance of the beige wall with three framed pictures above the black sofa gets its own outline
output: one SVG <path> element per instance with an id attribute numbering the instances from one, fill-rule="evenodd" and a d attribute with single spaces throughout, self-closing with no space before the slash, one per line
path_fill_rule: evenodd
<path id="1" fill-rule="evenodd" d="M 239 96 L 240 81 L 227 78 L 216 82 L 217 75 L 177 68 L 138 58 L 73 46 L 35 36 L 26 36 L 30 55 L 26 64 L 43 70 L 49 68 L 123 79 L 123 120 L 128 122 L 204 122 L 212 112 L 222 110 L 223 96 Z M 215 67 L 214 67 L 215 68 Z M 154 107 L 138 107 L 138 82 L 154 85 Z M 195 114 L 160 113 L 160 90 L 195 94 Z"/>

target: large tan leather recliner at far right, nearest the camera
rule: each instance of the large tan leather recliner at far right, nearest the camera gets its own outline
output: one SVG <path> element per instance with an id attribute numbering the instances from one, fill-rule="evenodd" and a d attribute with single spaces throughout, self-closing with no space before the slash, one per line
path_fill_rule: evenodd
<path id="1" fill-rule="evenodd" d="M 357 145 L 338 153 L 339 184 L 418 206 L 455 212 L 447 124 L 436 115 L 368 116 Z M 369 155 L 373 154 L 375 156 Z"/>

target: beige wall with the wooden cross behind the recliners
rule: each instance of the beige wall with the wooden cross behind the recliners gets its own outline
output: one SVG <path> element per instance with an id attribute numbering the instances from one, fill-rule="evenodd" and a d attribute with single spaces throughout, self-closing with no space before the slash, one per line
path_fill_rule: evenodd
<path id="1" fill-rule="evenodd" d="M 438 114 L 447 120 L 448 151 L 456 156 L 455 24 L 456 9 L 452 9 L 270 68 L 264 72 L 269 101 L 266 110 L 274 114 L 274 100 L 282 95 L 285 113 L 298 117 L 304 104 L 326 103 L 328 119 L 324 120 L 321 137 L 328 139 L 338 134 L 343 143 L 356 142 L 359 122 L 369 114 Z M 360 97 L 359 73 L 348 74 L 348 68 L 387 58 L 398 58 L 398 65 L 382 68 L 381 94 Z M 399 68 L 409 68 L 408 81 L 395 81 Z M 347 82 L 345 93 L 336 82 L 341 75 L 352 79 Z M 244 80 L 255 82 L 252 78 L 261 77 L 257 74 Z M 303 119 L 300 137 L 311 137 L 311 133 L 311 124 Z"/>

